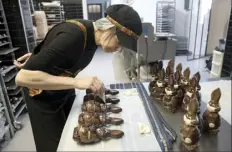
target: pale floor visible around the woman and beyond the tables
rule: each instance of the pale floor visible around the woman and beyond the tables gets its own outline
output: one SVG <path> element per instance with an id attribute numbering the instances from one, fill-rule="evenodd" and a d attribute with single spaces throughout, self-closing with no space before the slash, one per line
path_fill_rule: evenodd
<path id="1" fill-rule="evenodd" d="M 202 78 L 211 78 L 205 68 L 205 59 L 187 61 L 186 56 L 176 57 L 175 64 L 182 63 L 183 68 L 190 67 L 191 74 L 200 71 Z M 164 67 L 167 61 L 164 62 Z M 105 84 L 129 81 L 123 71 L 122 59 L 119 54 L 104 53 L 99 49 L 91 64 L 78 77 L 98 76 Z M 23 116 L 23 128 L 18 131 L 9 145 L 3 151 L 35 151 L 35 144 L 28 115 Z"/>

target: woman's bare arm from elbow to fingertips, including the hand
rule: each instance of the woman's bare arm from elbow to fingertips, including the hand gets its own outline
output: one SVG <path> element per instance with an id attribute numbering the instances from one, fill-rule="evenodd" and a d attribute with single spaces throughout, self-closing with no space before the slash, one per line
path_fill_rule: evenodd
<path id="1" fill-rule="evenodd" d="M 22 69 L 18 72 L 15 82 L 19 86 L 41 90 L 92 89 L 94 93 L 105 92 L 102 81 L 97 77 L 72 78 Z"/>

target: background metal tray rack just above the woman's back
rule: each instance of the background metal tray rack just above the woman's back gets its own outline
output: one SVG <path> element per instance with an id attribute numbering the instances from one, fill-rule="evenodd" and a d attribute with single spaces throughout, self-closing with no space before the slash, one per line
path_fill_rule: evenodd
<path id="1" fill-rule="evenodd" d="M 64 21 L 63 5 L 43 6 L 42 4 L 39 4 L 39 10 L 45 12 L 48 25 L 54 25 Z"/>

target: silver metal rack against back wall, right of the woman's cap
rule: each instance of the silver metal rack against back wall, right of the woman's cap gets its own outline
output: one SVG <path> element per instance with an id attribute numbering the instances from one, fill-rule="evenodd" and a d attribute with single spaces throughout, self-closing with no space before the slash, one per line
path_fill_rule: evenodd
<path id="1" fill-rule="evenodd" d="M 175 2 L 157 2 L 156 32 L 175 33 Z"/>

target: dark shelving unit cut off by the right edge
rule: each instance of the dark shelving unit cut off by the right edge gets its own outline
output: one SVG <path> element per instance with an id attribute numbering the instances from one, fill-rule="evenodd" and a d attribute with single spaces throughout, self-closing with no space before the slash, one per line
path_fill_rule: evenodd
<path id="1" fill-rule="evenodd" d="M 230 20 L 227 31 L 226 47 L 224 52 L 223 64 L 222 64 L 222 74 L 221 77 L 231 77 L 232 78 L 232 9 L 230 12 Z"/>

